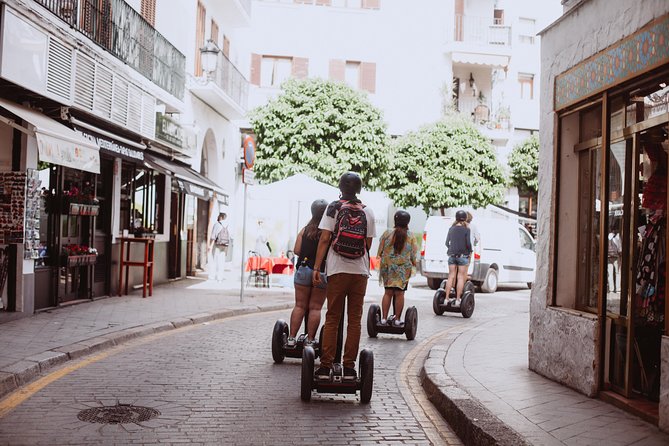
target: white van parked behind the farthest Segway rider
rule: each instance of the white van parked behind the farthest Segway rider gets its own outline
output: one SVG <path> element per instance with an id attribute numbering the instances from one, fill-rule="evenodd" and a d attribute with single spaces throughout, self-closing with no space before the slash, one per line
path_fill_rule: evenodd
<path id="1" fill-rule="evenodd" d="M 421 249 L 421 274 L 433 290 L 448 278 L 446 236 L 453 224 L 452 217 L 432 216 L 425 222 Z M 504 219 L 472 221 L 473 233 L 479 243 L 474 246 L 469 275 L 484 293 L 494 293 L 498 283 L 534 282 L 536 268 L 535 243 L 522 225 Z"/>

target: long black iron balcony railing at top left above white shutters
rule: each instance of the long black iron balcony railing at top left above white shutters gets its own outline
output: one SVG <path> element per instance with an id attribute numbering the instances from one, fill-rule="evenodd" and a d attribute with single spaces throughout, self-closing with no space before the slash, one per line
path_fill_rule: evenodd
<path id="1" fill-rule="evenodd" d="M 186 56 L 123 0 L 35 0 L 179 99 Z"/>

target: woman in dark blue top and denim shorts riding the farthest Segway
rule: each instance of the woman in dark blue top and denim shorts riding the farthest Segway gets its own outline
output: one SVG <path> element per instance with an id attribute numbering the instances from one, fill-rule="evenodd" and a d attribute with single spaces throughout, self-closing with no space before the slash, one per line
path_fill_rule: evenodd
<path id="1" fill-rule="evenodd" d="M 455 213 L 455 222 L 448 230 L 446 237 L 448 248 L 448 282 L 446 283 L 446 295 L 451 294 L 453 281 L 458 278 L 455 287 L 455 305 L 460 305 L 462 290 L 467 281 L 467 269 L 469 268 L 469 257 L 472 254 L 471 231 L 467 225 L 467 213 L 458 211 Z"/>

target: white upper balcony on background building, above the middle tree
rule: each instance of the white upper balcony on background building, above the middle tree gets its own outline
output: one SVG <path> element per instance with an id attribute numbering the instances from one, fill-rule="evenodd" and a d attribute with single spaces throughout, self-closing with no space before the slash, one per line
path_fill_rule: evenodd
<path id="1" fill-rule="evenodd" d="M 455 14 L 453 41 L 447 52 L 454 62 L 506 66 L 511 56 L 511 26 L 493 18 Z"/>

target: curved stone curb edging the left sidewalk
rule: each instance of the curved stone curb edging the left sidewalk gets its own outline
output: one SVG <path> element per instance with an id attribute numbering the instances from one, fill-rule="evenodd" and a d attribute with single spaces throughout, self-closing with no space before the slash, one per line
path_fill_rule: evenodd
<path id="1" fill-rule="evenodd" d="M 46 373 L 61 364 L 79 359 L 92 353 L 108 350 L 133 339 L 244 314 L 287 310 L 293 308 L 293 306 L 293 302 L 286 302 L 253 307 L 240 306 L 238 308 L 227 310 L 214 310 L 211 312 L 198 313 L 193 316 L 179 317 L 172 321 L 155 322 L 147 325 L 126 328 L 114 333 L 107 333 L 73 344 L 53 348 L 29 356 L 0 369 L 0 399 L 19 390 L 22 386 L 28 384 L 42 373 Z"/>

